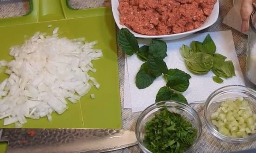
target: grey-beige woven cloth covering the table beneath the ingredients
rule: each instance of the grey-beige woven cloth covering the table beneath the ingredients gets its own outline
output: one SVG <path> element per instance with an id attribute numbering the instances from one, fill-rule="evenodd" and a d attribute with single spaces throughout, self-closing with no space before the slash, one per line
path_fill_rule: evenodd
<path id="1" fill-rule="evenodd" d="M 213 31 L 223 31 L 231 30 L 233 34 L 233 40 L 237 51 L 237 56 L 242 71 L 245 70 L 245 55 L 246 55 L 246 43 L 247 36 L 239 31 L 236 31 L 224 24 L 222 20 L 224 16 L 231 9 L 232 0 L 219 0 L 220 3 L 220 13 L 218 20 L 211 27 L 200 31 L 200 32 L 213 32 Z M 102 6 L 110 6 L 110 0 L 70 0 L 69 5 L 75 9 L 86 9 L 95 8 Z M 4 4 L 0 6 L 0 17 L 12 17 L 24 15 L 29 11 L 29 3 L 18 2 L 15 4 Z M 120 94 L 122 102 L 122 123 L 124 129 L 134 130 L 136 120 L 140 115 L 140 112 L 132 113 L 131 109 L 124 109 L 124 53 L 118 48 L 118 67 L 119 67 L 119 81 L 120 81 Z M 245 150 L 256 147 L 256 142 L 244 143 L 244 144 L 231 144 L 223 142 L 212 134 L 209 133 L 203 119 L 203 108 L 204 104 L 190 104 L 199 114 L 201 121 L 203 123 L 203 132 L 201 140 L 198 147 L 195 149 L 195 153 L 224 153 L 237 150 Z M 142 151 L 138 146 L 129 147 L 126 149 L 114 151 L 112 153 L 141 153 Z"/>

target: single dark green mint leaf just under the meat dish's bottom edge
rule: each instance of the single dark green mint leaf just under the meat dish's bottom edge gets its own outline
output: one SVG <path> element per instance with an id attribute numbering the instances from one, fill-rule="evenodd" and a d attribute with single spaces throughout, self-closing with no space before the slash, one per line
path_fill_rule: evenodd
<path id="1" fill-rule="evenodd" d="M 150 54 L 158 54 L 162 59 L 167 56 L 166 51 L 167 45 L 164 41 L 161 40 L 152 40 L 148 50 Z"/>

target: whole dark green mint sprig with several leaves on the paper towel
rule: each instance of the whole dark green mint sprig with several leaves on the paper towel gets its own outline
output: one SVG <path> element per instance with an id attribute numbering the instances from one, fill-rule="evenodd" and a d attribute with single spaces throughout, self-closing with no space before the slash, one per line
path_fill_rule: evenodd
<path id="1" fill-rule="evenodd" d="M 180 92 L 187 90 L 191 76 L 178 69 L 168 69 L 163 61 L 167 56 L 167 45 L 164 41 L 152 40 L 149 46 L 139 47 L 136 37 L 128 29 L 122 28 L 117 34 L 117 42 L 127 55 L 136 54 L 144 61 L 135 78 L 138 89 L 147 88 L 157 77 L 163 76 L 167 83 L 158 91 L 156 102 L 172 100 L 187 103 Z"/>

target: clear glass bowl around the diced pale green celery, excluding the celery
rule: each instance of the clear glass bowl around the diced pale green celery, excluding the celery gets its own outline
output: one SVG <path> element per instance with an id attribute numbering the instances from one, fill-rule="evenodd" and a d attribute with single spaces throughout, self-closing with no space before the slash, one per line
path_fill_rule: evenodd
<path id="1" fill-rule="evenodd" d="M 211 114 L 219 108 L 222 102 L 224 102 L 227 98 L 236 100 L 238 97 L 243 97 L 244 100 L 248 101 L 249 105 L 253 109 L 252 112 L 256 113 L 256 91 L 245 86 L 230 85 L 219 88 L 210 94 L 205 102 L 204 119 L 208 129 L 215 137 L 226 142 L 243 143 L 252 141 L 256 138 L 256 134 L 242 138 L 234 138 L 222 135 L 218 132 L 217 127 L 211 122 Z"/>

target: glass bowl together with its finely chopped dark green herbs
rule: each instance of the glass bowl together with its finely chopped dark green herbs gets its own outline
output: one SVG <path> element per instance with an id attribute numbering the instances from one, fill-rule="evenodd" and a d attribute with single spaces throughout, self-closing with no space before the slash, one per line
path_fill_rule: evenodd
<path id="1" fill-rule="evenodd" d="M 145 153 L 187 153 L 201 135 L 196 111 L 180 102 L 158 102 L 146 108 L 136 124 L 136 137 Z"/>

